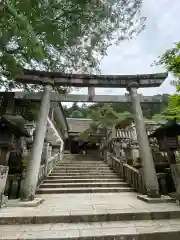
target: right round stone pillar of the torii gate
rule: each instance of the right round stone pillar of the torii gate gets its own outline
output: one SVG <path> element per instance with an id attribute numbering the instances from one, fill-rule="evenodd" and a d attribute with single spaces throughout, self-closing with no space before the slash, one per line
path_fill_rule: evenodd
<path id="1" fill-rule="evenodd" d="M 157 174 L 154 166 L 151 148 L 149 145 L 148 136 L 146 133 L 146 127 L 137 89 L 138 84 L 136 82 L 131 83 L 127 88 L 132 100 L 132 109 L 137 131 L 137 139 L 139 143 L 139 153 L 143 165 L 143 178 L 148 196 L 159 197 L 159 184 Z"/>

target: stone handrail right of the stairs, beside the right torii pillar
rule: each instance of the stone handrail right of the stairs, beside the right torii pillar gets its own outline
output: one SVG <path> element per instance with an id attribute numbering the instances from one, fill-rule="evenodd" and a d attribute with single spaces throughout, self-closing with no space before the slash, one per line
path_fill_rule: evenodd
<path id="1" fill-rule="evenodd" d="M 126 180 L 138 193 L 146 194 L 146 188 L 143 182 L 141 169 L 136 168 L 123 163 L 120 159 L 114 156 L 111 157 L 112 169 L 120 175 L 120 177 Z"/>

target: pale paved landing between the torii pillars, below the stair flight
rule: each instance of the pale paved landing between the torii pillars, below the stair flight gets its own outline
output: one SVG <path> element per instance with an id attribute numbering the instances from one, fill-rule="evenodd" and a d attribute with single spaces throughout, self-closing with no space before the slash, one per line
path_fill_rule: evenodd
<path id="1" fill-rule="evenodd" d="M 39 197 L 44 198 L 44 202 L 39 206 L 0 209 L 0 218 L 4 216 L 72 215 L 88 212 L 180 210 L 180 206 L 175 203 L 145 203 L 137 199 L 136 193 L 54 194 Z"/>

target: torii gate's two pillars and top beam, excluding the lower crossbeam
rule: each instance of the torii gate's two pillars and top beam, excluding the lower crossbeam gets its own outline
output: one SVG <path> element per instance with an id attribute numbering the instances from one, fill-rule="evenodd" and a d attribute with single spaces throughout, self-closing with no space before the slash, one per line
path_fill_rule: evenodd
<path id="1" fill-rule="evenodd" d="M 146 134 L 143 113 L 138 95 L 138 88 L 159 87 L 167 73 L 140 74 L 140 75 L 87 75 L 64 74 L 57 72 L 45 72 L 36 70 L 24 70 L 15 80 L 24 84 L 40 84 L 43 86 L 41 106 L 36 125 L 31 158 L 27 167 L 27 174 L 23 187 L 23 200 L 32 200 L 35 196 L 41 154 L 46 132 L 46 121 L 50 108 L 51 93 L 53 87 L 102 87 L 102 88 L 126 88 L 132 101 L 132 109 L 139 143 L 140 157 L 143 163 L 144 181 L 149 197 L 159 197 L 159 186 L 154 167 L 153 157 Z M 93 92 L 93 91 L 89 91 Z"/>

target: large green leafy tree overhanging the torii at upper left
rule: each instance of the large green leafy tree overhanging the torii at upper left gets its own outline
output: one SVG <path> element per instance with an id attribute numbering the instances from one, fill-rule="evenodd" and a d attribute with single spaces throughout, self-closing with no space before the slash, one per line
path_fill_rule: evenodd
<path id="1" fill-rule="evenodd" d="M 99 71 L 108 46 L 143 29 L 141 4 L 142 0 L 2 0 L 0 87 L 7 87 L 24 67 Z"/>

